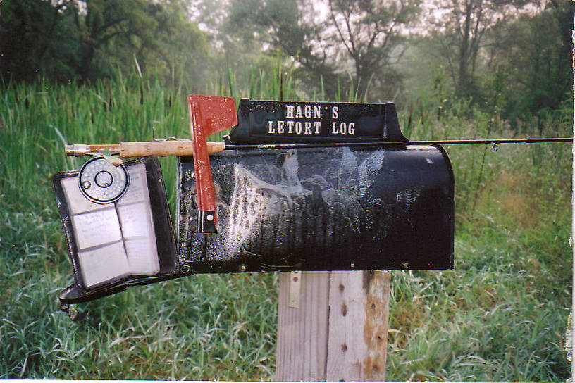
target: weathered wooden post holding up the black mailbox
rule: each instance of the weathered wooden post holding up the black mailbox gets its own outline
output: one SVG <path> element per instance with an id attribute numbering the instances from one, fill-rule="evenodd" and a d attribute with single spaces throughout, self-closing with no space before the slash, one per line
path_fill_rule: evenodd
<path id="1" fill-rule="evenodd" d="M 389 272 L 283 272 L 276 379 L 383 382 L 389 293 Z"/>

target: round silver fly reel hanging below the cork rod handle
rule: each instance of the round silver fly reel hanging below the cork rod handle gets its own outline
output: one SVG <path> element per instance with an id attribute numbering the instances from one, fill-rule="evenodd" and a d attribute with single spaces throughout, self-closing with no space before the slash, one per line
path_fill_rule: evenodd
<path id="1" fill-rule="evenodd" d="M 103 156 L 90 158 L 78 176 L 80 192 L 92 202 L 112 203 L 118 201 L 130 184 L 125 166 L 113 165 Z"/>

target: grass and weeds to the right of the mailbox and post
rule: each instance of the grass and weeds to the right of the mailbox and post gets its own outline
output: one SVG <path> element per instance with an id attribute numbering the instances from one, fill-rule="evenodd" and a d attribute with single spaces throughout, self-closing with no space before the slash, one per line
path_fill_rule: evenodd
<path id="1" fill-rule="evenodd" d="M 412 139 L 514 137 L 493 111 L 423 98 Z M 526 137 L 571 136 L 572 111 Z M 388 379 L 566 379 L 571 308 L 571 146 L 448 146 L 456 189 L 455 270 L 394 272 Z"/>

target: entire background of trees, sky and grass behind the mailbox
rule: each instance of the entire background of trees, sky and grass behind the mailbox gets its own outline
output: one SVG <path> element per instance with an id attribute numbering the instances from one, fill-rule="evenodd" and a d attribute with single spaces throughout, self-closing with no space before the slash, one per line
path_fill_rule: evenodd
<path id="1" fill-rule="evenodd" d="M 571 136 L 573 7 L 2 1 L 0 377 L 274 378 L 275 273 L 130 289 L 81 323 L 58 312 L 72 277 L 51 175 L 82 162 L 64 144 L 187 137 L 192 92 L 393 99 L 412 139 Z M 392 272 L 388 379 L 567 379 L 571 148 L 447 150 L 455 270 Z M 175 159 L 161 163 L 174 211 Z"/>

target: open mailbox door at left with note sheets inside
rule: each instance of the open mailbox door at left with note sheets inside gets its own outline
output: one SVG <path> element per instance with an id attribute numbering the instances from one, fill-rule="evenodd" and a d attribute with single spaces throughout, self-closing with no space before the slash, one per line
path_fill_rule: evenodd
<path id="1" fill-rule="evenodd" d="M 166 280 L 180 270 L 157 158 L 129 161 L 118 170 L 111 164 L 108 167 L 101 157 L 92 158 L 87 165 L 99 161 L 104 162 L 104 170 L 88 170 L 84 177 L 72 170 L 53 177 L 75 280 L 61 292 L 63 303 L 91 301 L 134 284 Z M 130 182 L 124 182 L 125 175 Z M 87 189 L 89 182 L 94 184 L 89 189 L 97 183 L 103 186 L 97 187 L 97 192 L 107 192 L 118 184 L 125 186 L 125 191 L 115 201 L 99 199 L 97 193 L 86 196 L 82 189 Z"/>

